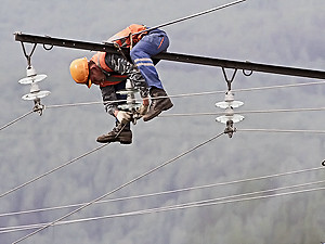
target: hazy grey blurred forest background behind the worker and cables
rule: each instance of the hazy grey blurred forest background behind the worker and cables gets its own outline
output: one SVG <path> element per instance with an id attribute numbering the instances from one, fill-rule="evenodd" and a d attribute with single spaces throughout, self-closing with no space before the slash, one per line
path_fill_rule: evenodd
<path id="1" fill-rule="evenodd" d="M 131 23 L 155 26 L 226 3 L 224 0 L 156 1 L 23 1 L 2 0 L 0 8 L 0 126 L 30 111 L 21 99 L 29 87 L 27 62 L 13 33 L 102 42 Z M 229 9 L 165 27 L 170 52 L 324 69 L 324 0 L 247 0 Z M 31 46 L 26 46 L 27 51 Z M 76 85 L 70 62 L 93 52 L 38 46 L 31 64 L 48 78 L 44 105 L 99 102 L 100 90 Z M 221 68 L 161 61 L 157 65 L 170 95 L 225 91 Z M 314 79 L 238 73 L 233 89 L 317 81 Z M 242 111 L 323 107 L 324 86 L 235 92 Z M 224 94 L 173 98 L 165 113 L 221 112 Z M 159 117 L 133 127 L 131 145 L 104 149 L 0 198 L 0 232 L 6 227 L 55 220 L 74 208 L 3 216 L 6 213 L 90 202 L 143 172 L 222 132 L 217 116 Z M 324 112 L 247 114 L 238 129 L 323 130 Z M 0 131 L 0 194 L 96 146 L 98 136 L 114 119 L 103 105 L 48 108 Z M 325 139 L 318 133 L 236 132 L 202 146 L 109 198 L 199 187 L 320 167 Z M 95 204 L 68 220 L 164 207 L 324 179 L 323 170 L 146 197 Z M 314 185 L 320 187 L 320 184 Z M 324 184 L 323 184 L 324 187 Z M 291 191 L 295 189 L 291 189 Z M 274 191 L 281 193 L 282 191 Z M 51 227 L 22 243 L 321 243 L 325 242 L 324 191 L 219 204 L 151 215 Z M 1 233 L 11 243 L 29 231 Z"/>

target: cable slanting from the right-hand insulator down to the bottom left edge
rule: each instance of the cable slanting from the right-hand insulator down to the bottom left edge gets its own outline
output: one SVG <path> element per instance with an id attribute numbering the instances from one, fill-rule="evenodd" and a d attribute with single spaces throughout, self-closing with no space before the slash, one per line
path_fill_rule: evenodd
<path id="1" fill-rule="evenodd" d="M 42 228 L 40 228 L 40 229 L 38 229 L 38 230 L 31 232 L 31 233 L 29 233 L 29 234 L 27 234 L 27 235 L 25 235 L 25 236 L 18 239 L 17 241 L 13 242 L 12 244 L 20 243 L 20 242 L 22 242 L 22 241 L 24 241 L 24 240 L 26 240 L 26 239 L 28 239 L 28 237 L 30 237 L 30 236 L 37 234 L 38 232 L 40 232 L 40 231 L 42 231 L 42 230 L 44 230 L 44 229 L 47 229 L 47 228 L 53 226 L 54 223 L 56 223 L 56 222 L 58 222 L 58 221 L 62 221 L 63 219 L 65 219 L 65 218 L 67 218 L 67 217 L 69 217 L 69 216 L 72 216 L 72 215 L 74 215 L 74 214 L 76 214 L 76 213 L 78 213 L 78 211 L 84 209 L 86 207 L 88 207 L 88 206 L 90 206 L 90 205 L 92 205 L 92 204 L 94 204 L 94 203 L 96 203 L 96 202 L 99 202 L 99 201 L 105 198 L 105 197 L 108 196 L 108 195 L 112 195 L 113 193 L 115 193 L 115 192 L 117 192 L 117 191 L 119 191 L 119 190 L 121 190 L 121 189 L 123 189 L 123 188 L 126 188 L 126 187 L 128 187 L 128 185 L 134 183 L 135 181 L 138 181 L 138 180 L 140 180 L 140 179 L 142 179 L 142 178 L 144 178 L 144 177 L 146 177 L 146 176 L 153 174 L 154 171 L 157 171 L 158 169 L 160 169 L 160 168 L 162 168 L 162 167 L 165 167 L 165 166 L 171 164 L 172 162 L 176 162 L 177 159 L 179 159 L 179 158 L 181 158 L 181 157 L 187 155 L 188 153 L 191 153 L 191 152 L 193 152 L 193 151 L 195 151 L 195 150 L 202 147 L 203 145 L 208 144 L 209 142 L 211 142 L 211 141 L 216 140 L 217 138 L 221 137 L 222 134 L 224 134 L 224 132 L 221 132 L 221 133 L 219 133 L 219 134 L 217 134 L 217 136 L 210 138 L 209 140 L 199 143 L 198 145 L 196 145 L 196 146 L 194 146 L 194 147 L 187 150 L 187 151 L 184 152 L 184 153 L 181 153 L 180 155 L 178 155 L 178 156 L 171 158 L 170 160 L 167 160 L 167 162 L 162 163 L 161 165 L 159 165 L 159 166 L 157 166 L 157 167 L 155 167 L 155 168 L 153 168 L 153 169 L 151 169 L 151 170 L 148 170 L 148 171 L 146 171 L 146 172 L 140 175 L 139 177 L 136 177 L 136 178 L 134 178 L 134 179 L 132 179 L 132 180 L 130 180 L 130 181 L 128 181 L 128 182 L 121 184 L 120 187 L 114 189 L 113 191 L 105 193 L 104 195 L 102 195 L 102 196 L 100 196 L 100 197 L 98 197 L 98 198 L 95 198 L 95 200 L 93 200 L 93 201 L 91 201 L 91 202 L 89 202 L 89 203 L 82 205 L 81 207 L 79 207 L 79 208 L 77 208 L 77 209 L 75 209 L 75 210 L 73 210 L 73 211 L 70 211 L 70 213 L 68 213 L 68 214 L 62 216 L 61 218 L 58 218 L 58 219 L 56 219 L 56 220 L 54 220 L 54 221 L 48 223 L 47 226 L 44 226 L 44 227 L 42 227 Z"/>

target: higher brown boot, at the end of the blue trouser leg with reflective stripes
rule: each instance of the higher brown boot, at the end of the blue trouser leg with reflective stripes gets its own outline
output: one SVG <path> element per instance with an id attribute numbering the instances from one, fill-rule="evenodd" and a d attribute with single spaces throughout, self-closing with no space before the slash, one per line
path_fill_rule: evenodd
<path id="1" fill-rule="evenodd" d="M 150 105 L 148 112 L 143 116 L 144 121 L 148 121 L 154 117 L 157 117 L 162 111 L 168 111 L 173 106 L 165 90 L 152 87 L 150 93 L 153 100 Z"/>

